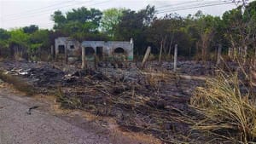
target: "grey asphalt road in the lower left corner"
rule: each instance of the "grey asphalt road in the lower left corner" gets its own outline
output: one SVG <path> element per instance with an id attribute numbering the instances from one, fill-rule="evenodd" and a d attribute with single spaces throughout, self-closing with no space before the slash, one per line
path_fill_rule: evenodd
<path id="1" fill-rule="evenodd" d="M 49 112 L 27 110 L 20 96 L 8 94 L 0 88 L 0 144 L 106 144 L 108 135 L 84 130 Z"/>

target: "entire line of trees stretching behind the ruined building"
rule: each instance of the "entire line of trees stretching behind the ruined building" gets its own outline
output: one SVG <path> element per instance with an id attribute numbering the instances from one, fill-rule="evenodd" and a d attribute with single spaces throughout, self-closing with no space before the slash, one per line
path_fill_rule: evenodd
<path id="1" fill-rule="evenodd" d="M 27 49 L 49 48 L 55 37 L 83 40 L 121 40 L 135 43 L 135 55 L 143 55 L 148 46 L 154 54 L 171 55 L 175 44 L 178 54 L 212 59 L 218 44 L 224 51 L 229 47 L 244 47 L 252 51 L 256 37 L 256 2 L 249 3 L 244 13 L 241 7 L 226 11 L 223 16 L 212 16 L 198 11 L 182 17 L 166 14 L 157 18 L 154 6 L 134 11 L 131 9 L 88 9 L 81 7 L 67 13 L 60 10 L 51 14 L 53 30 L 25 26 L 10 31 L 0 29 L 0 49 L 14 45 Z"/>

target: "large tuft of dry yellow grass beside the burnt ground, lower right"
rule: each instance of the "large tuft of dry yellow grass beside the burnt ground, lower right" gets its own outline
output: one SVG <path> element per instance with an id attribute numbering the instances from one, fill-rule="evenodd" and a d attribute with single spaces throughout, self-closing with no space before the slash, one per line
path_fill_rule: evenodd
<path id="1" fill-rule="evenodd" d="M 193 130 L 221 135 L 231 141 L 250 143 L 256 138 L 256 105 L 250 94 L 241 92 L 237 75 L 220 74 L 207 80 L 191 98 L 191 106 L 202 116 Z"/>

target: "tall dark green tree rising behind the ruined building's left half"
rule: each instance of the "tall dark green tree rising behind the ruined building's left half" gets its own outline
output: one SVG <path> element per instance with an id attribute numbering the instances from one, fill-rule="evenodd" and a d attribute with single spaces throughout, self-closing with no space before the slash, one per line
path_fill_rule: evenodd
<path id="1" fill-rule="evenodd" d="M 68 11 L 66 15 L 62 14 L 61 11 L 55 11 L 51 15 L 51 18 L 55 21 L 55 31 L 77 38 L 78 40 L 91 40 L 99 36 L 102 12 L 98 9 L 86 9 L 82 7 Z"/>

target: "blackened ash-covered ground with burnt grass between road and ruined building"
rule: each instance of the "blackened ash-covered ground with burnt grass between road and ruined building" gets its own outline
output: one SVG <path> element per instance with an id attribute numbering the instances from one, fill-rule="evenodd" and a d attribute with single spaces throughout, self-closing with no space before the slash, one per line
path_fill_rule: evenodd
<path id="1" fill-rule="evenodd" d="M 184 78 L 172 72 L 169 62 L 151 62 L 144 70 L 131 64 L 125 69 L 83 71 L 60 63 L 10 60 L 0 66 L 4 74 L 24 79 L 37 93 L 56 95 L 62 107 L 110 116 L 123 130 L 152 134 L 165 142 L 183 141 L 181 135 L 189 135 L 189 122 L 182 119 L 195 115 L 189 98 L 215 69 L 211 63 L 181 61 L 178 73 L 189 75 Z"/>

